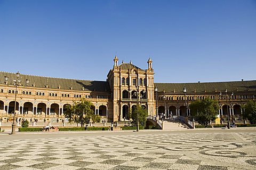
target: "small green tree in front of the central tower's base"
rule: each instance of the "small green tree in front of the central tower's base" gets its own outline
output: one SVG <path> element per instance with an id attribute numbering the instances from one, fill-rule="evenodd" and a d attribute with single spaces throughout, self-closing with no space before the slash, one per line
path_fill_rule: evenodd
<path id="1" fill-rule="evenodd" d="M 134 107 L 134 109 L 131 111 L 129 114 L 129 118 L 132 118 L 133 124 L 137 125 L 137 107 Z M 143 108 L 142 106 L 138 107 L 138 115 L 139 115 L 139 125 L 145 127 L 146 126 L 146 121 L 147 121 L 147 116 L 148 116 L 148 111 L 146 108 Z"/>

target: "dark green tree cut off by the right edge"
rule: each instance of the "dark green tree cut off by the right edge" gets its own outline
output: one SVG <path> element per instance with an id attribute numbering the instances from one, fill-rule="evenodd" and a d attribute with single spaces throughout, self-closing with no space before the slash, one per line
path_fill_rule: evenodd
<path id="1" fill-rule="evenodd" d="M 245 104 L 243 118 L 248 119 L 251 124 L 256 124 L 256 102 L 249 100 Z"/>

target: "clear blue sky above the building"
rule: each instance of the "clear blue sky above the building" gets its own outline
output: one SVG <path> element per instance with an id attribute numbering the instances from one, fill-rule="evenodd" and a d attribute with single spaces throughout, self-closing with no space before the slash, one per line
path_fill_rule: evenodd
<path id="1" fill-rule="evenodd" d="M 0 71 L 106 80 L 116 53 L 158 83 L 256 79 L 256 1 L 0 0 Z"/>

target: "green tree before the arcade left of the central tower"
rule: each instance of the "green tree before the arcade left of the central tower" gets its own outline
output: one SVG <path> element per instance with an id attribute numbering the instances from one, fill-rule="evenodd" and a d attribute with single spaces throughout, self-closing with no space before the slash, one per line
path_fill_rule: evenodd
<path id="1" fill-rule="evenodd" d="M 82 98 L 79 102 L 75 102 L 73 106 L 67 106 L 65 117 L 69 119 L 69 122 L 75 122 L 81 124 L 89 123 L 92 118 L 93 110 L 91 109 L 92 103 Z"/>

